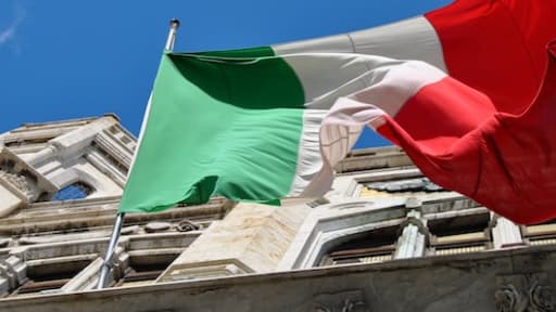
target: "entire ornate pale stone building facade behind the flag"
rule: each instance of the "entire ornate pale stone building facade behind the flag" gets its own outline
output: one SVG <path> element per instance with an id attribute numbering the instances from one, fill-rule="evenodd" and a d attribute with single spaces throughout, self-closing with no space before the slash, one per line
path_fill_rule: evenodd
<path id="1" fill-rule="evenodd" d="M 136 144 L 112 115 L 0 134 L 0 311 L 556 311 L 556 222 L 496 216 L 397 147 L 352 152 L 323 198 L 129 213 L 96 290 Z"/>

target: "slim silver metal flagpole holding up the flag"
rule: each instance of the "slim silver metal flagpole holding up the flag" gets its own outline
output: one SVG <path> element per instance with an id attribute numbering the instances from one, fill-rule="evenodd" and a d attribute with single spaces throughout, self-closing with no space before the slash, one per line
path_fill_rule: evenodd
<path id="1" fill-rule="evenodd" d="M 179 21 L 176 18 L 172 18 L 169 21 L 169 32 L 168 39 L 166 40 L 166 46 L 164 47 L 167 51 L 174 50 L 174 42 L 176 41 L 176 30 L 179 27 Z M 114 227 L 112 229 L 112 235 L 110 236 L 109 247 L 106 248 L 106 255 L 104 255 L 104 263 L 102 264 L 102 270 L 99 275 L 99 284 L 97 285 L 97 289 L 102 289 L 106 287 L 109 282 L 109 274 L 114 266 L 114 250 L 116 249 L 117 240 L 119 239 L 119 233 L 122 232 L 122 226 L 124 225 L 124 217 L 126 213 L 121 212 L 116 214 L 116 220 L 114 222 Z"/>

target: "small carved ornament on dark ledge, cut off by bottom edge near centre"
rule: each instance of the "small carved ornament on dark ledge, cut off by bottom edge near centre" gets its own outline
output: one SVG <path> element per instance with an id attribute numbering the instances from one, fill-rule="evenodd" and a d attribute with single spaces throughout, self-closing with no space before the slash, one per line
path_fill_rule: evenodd
<path id="1" fill-rule="evenodd" d="M 361 290 L 319 294 L 314 297 L 313 312 L 370 312 Z"/>

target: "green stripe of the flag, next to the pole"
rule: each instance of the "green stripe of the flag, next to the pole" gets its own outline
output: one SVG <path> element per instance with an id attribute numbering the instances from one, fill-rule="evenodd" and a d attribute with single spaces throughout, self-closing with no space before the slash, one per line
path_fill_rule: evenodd
<path id="1" fill-rule="evenodd" d="M 298 77 L 280 57 L 216 54 L 163 55 L 121 212 L 290 191 L 303 127 Z"/>

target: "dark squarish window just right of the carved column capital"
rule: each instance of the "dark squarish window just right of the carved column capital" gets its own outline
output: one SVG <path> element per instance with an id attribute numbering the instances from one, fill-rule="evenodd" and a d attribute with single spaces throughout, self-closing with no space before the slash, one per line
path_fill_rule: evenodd
<path id="1" fill-rule="evenodd" d="M 429 220 L 428 253 L 469 253 L 492 248 L 489 222 L 489 212 Z"/>

